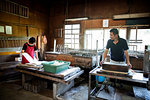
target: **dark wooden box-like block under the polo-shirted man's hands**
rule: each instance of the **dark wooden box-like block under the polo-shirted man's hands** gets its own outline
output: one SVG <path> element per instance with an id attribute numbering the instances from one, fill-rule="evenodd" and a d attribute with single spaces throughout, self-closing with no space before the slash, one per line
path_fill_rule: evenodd
<path id="1" fill-rule="evenodd" d="M 128 74 L 128 70 L 129 66 L 127 64 L 114 64 L 110 62 L 105 62 L 102 64 L 102 70 L 98 71 L 97 73 L 121 77 L 131 77 Z"/>

